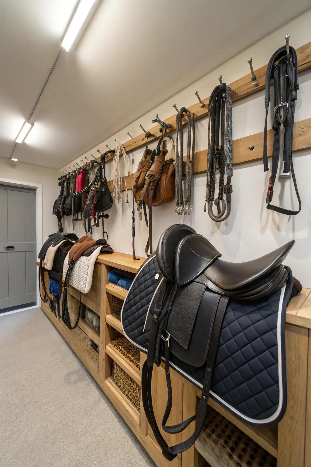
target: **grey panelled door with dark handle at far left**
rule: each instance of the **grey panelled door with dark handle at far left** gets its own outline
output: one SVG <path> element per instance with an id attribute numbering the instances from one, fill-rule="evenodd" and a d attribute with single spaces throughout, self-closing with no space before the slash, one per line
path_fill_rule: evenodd
<path id="1" fill-rule="evenodd" d="M 36 302 L 35 190 L 0 185 L 0 312 Z"/>

